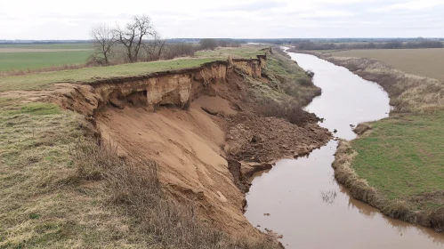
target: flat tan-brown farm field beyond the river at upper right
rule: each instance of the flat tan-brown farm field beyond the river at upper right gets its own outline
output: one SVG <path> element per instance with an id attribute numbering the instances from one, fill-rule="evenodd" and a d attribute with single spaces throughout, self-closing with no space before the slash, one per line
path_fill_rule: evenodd
<path id="1" fill-rule="evenodd" d="M 350 50 L 333 52 L 332 55 L 372 58 L 409 74 L 444 80 L 444 48 Z"/>

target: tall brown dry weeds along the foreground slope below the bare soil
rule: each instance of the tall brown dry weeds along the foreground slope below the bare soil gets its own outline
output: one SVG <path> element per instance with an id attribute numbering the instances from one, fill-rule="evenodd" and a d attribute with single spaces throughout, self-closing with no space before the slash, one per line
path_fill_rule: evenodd
<path id="1" fill-rule="evenodd" d="M 109 205 L 131 217 L 131 227 L 149 248 L 279 248 L 265 238 L 229 237 L 200 219 L 193 203 L 179 203 L 164 193 L 155 162 L 118 157 L 109 144 L 77 143 L 75 155 L 78 176 L 106 182 Z"/>

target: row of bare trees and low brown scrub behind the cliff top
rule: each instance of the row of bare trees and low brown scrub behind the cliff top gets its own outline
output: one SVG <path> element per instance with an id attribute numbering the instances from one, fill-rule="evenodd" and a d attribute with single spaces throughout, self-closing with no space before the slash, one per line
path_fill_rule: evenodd
<path id="1" fill-rule="evenodd" d="M 96 65 L 171 60 L 193 56 L 198 50 L 214 50 L 218 46 L 240 46 L 231 39 L 200 39 L 199 44 L 168 43 L 146 15 L 134 16 L 125 26 L 95 26 L 91 29 L 90 36 L 95 52 L 88 63 Z"/>

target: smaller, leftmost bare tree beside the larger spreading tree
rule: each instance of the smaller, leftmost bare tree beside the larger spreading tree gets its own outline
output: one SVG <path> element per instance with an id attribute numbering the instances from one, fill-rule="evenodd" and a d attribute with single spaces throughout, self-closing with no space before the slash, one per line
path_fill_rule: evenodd
<path id="1" fill-rule="evenodd" d="M 112 56 L 112 47 L 116 44 L 113 30 L 106 24 L 101 24 L 91 29 L 90 36 L 93 39 L 97 53 L 103 56 L 104 64 L 109 65 L 109 59 Z"/>

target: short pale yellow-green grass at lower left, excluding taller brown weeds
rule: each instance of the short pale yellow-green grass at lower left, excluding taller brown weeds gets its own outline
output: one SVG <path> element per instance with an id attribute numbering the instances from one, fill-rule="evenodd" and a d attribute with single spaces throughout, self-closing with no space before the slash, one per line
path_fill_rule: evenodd
<path id="1" fill-rule="evenodd" d="M 0 247 L 107 245 L 98 231 L 122 227 L 74 177 L 69 144 L 93 137 L 88 125 L 52 104 L 0 100 Z"/>

